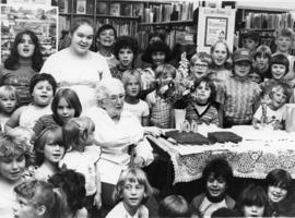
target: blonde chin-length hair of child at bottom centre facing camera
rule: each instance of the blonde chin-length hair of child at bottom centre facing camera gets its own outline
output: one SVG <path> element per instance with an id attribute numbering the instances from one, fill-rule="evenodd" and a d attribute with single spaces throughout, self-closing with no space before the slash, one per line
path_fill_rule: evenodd
<path id="1" fill-rule="evenodd" d="M 144 171 L 142 171 L 140 168 L 128 168 L 121 172 L 115 191 L 113 193 L 114 201 L 116 203 L 122 201 L 122 192 L 127 182 L 138 182 L 139 184 L 144 185 L 144 196 L 142 199 L 142 204 L 144 204 L 152 194 L 152 187 L 148 181 Z"/>

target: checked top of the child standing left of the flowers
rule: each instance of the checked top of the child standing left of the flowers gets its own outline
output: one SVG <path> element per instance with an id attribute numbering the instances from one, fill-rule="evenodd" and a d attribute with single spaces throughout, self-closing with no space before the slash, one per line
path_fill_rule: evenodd
<path id="1" fill-rule="evenodd" d="M 151 124 L 162 129 L 172 128 L 172 104 L 152 92 L 146 96 L 151 109 Z"/>

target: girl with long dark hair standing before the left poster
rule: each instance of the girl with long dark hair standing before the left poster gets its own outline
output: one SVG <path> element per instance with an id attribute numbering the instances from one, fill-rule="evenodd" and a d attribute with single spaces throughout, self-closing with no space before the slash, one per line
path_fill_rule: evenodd
<path id="1" fill-rule="evenodd" d="M 15 36 L 13 47 L 4 65 L 0 69 L 0 85 L 16 88 L 20 105 L 32 102 L 30 81 L 43 65 L 38 37 L 32 31 L 23 31 Z"/>

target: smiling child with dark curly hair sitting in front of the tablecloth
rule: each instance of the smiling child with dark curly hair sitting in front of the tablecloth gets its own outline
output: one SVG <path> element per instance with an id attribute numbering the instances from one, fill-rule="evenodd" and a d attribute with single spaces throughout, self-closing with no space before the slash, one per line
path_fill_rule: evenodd
<path id="1" fill-rule="evenodd" d="M 225 159 L 211 160 L 202 174 L 205 192 L 192 199 L 191 207 L 199 210 L 202 217 L 210 217 L 221 207 L 234 208 L 235 201 L 226 193 L 232 179 L 233 170 Z"/>

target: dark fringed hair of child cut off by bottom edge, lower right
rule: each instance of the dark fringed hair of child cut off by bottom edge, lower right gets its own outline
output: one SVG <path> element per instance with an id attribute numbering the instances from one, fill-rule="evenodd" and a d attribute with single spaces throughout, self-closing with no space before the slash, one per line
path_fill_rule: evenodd
<path id="1" fill-rule="evenodd" d="M 244 206 L 253 205 L 259 207 L 266 207 L 268 205 L 268 196 L 263 187 L 251 183 L 239 194 L 237 199 L 237 208 L 243 211 Z"/>

